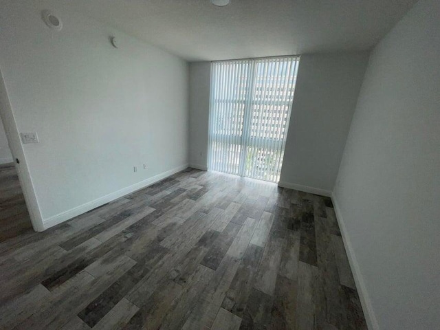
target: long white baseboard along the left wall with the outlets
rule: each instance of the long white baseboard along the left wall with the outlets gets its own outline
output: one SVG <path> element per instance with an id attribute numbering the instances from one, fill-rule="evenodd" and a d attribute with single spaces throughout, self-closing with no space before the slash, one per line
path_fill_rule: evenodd
<path id="1" fill-rule="evenodd" d="M 46 230 L 47 228 L 53 227 L 54 225 L 58 225 L 58 223 L 62 223 L 64 221 L 77 217 L 78 215 L 83 214 L 89 210 L 98 208 L 99 206 L 104 205 L 105 203 L 109 203 L 110 201 L 114 201 L 115 199 L 118 199 L 125 195 L 129 195 L 131 192 L 140 190 L 142 188 L 145 188 L 146 186 L 151 186 L 152 184 L 155 184 L 157 181 L 165 179 L 166 177 L 169 177 L 170 175 L 180 172 L 185 168 L 188 168 L 188 164 L 184 164 L 179 167 L 173 168 L 171 170 L 167 170 L 166 172 L 155 175 L 154 177 L 149 177 L 148 179 L 137 182 L 137 184 L 133 184 L 126 188 L 122 188 L 120 190 L 112 192 L 109 195 L 95 199 L 94 201 L 89 201 L 88 203 L 84 203 L 83 205 L 77 206 L 76 208 L 72 208 L 65 212 L 58 213 L 53 217 L 43 219 L 44 228 Z"/>

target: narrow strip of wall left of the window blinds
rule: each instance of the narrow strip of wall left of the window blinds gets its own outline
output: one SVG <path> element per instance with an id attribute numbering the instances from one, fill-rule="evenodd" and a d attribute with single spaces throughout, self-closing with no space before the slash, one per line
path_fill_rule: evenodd
<path id="1" fill-rule="evenodd" d="M 208 168 L 210 62 L 190 63 L 190 165 Z"/>

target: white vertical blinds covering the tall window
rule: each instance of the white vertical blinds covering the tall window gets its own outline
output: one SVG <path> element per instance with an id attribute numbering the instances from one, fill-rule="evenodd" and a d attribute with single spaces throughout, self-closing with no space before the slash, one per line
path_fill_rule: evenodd
<path id="1" fill-rule="evenodd" d="M 298 56 L 211 64 L 208 168 L 278 182 Z"/>

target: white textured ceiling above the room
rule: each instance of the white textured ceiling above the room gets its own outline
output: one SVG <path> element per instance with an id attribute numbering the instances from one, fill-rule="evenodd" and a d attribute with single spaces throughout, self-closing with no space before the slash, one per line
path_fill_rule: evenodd
<path id="1" fill-rule="evenodd" d="M 63 0 L 188 61 L 366 50 L 416 0 Z"/>

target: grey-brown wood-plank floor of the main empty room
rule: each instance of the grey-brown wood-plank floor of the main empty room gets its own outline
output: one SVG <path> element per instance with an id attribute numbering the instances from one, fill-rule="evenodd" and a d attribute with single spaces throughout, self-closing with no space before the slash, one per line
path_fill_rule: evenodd
<path id="1" fill-rule="evenodd" d="M 0 244 L 1 329 L 366 329 L 331 200 L 188 169 Z"/>

